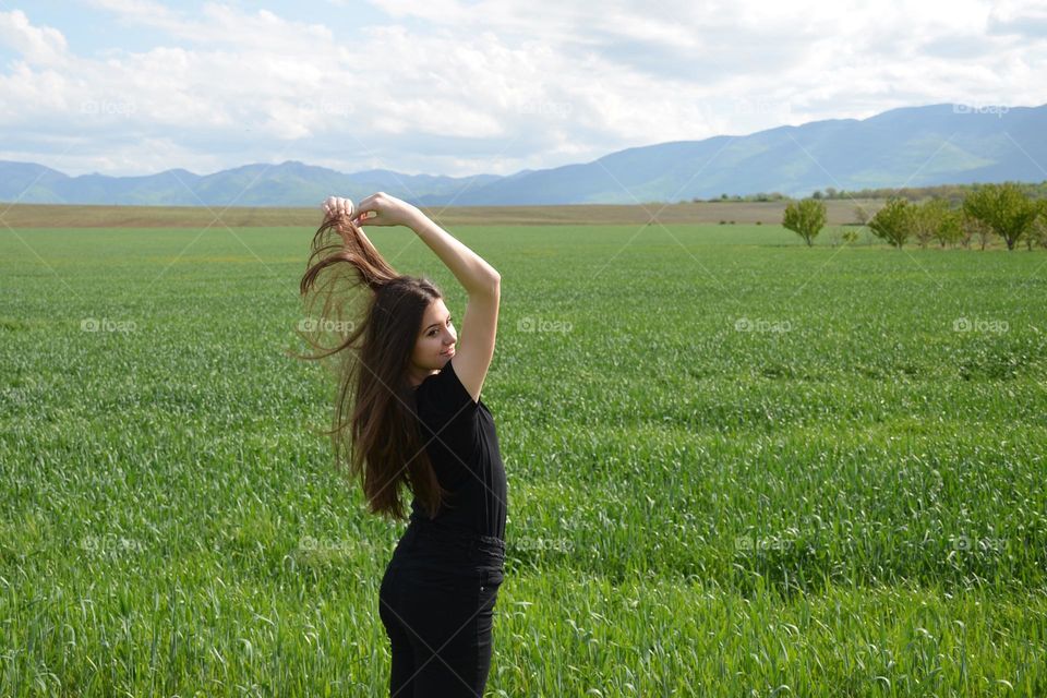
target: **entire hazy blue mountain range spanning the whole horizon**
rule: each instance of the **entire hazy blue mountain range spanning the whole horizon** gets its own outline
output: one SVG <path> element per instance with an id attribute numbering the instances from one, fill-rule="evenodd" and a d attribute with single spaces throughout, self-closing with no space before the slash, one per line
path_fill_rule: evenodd
<path id="1" fill-rule="evenodd" d="M 592 163 L 508 177 L 453 178 L 302 163 L 246 165 L 200 176 L 68 177 L 0 161 L 0 201 L 207 206 L 312 206 L 338 192 L 383 190 L 417 204 L 633 204 L 779 192 L 1047 179 L 1047 105 L 968 109 L 932 105 L 868 119 L 832 119 L 612 153 Z"/>

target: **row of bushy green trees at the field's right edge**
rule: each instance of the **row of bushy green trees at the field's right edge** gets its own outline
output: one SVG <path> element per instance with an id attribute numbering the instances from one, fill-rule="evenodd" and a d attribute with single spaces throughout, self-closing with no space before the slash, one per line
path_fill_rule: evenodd
<path id="1" fill-rule="evenodd" d="M 1035 185 L 1034 185 L 1035 186 Z M 1014 250 L 1024 243 L 1028 250 L 1047 248 L 1047 198 L 1035 196 L 1035 189 L 1018 182 L 979 184 L 964 196 L 913 202 L 891 196 L 878 209 L 857 205 L 855 222 L 866 226 L 877 238 L 901 249 L 913 240 L 920 248 L 929 244 L 970 248 L 977 239 L 982 249 L 998 237 Z M 790 202 L 782 226 L 796 232 L 811 245 L 826 225 L 826 204 L 814 196 Z M 853 242 L 857 233 L 844 233 Z"/>

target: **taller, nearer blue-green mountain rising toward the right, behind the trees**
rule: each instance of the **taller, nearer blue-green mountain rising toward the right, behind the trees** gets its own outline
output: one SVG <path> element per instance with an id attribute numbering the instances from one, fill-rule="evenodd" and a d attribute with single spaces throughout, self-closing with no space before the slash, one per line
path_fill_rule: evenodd
<path id="1" fill-rule="evenodd" d="M 815 121 L 746 136 L 612 153 L 586 165 L 495 181 L 469 205 L 635 203 L 720 194 L 1047 179 L 1047 105 L 971 112 L 952 105 L 864 120 Z M 438 197 L 423 200 L 438 203 Z"/>

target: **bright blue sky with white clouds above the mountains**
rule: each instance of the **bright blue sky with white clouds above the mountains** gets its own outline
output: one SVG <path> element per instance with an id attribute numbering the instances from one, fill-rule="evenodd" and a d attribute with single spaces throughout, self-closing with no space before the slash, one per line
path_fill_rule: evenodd
<path id="1" fill-rule="evenodd" d="M 1042 0 L 0 0 L 0 160 L 510 174 L 1044 75 Z"/>

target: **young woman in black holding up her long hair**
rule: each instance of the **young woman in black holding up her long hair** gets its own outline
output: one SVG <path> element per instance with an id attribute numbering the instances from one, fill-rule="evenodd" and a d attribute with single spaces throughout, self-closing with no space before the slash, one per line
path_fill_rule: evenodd
<path id="1" fill-rule="evenodd" d="M 506 480 L 494 421 L 480 399 L 494 356 L 501 276 L 417 207 L 377 193 L 330 197 L 301 281 L 322 300 L 310 328 L 346 330 L 313 359 L 340 358 L 335 457 L 348 452 L 369 508 L 409 525 L 378 593 L 389 637 L 389 694 L 482 696 L 504 579 Z M 468 294 L 458 342 L 443 293 L 397 274 L 361 225 L 407 226 Z M 349 291 L 364 286 L 362 299 Z M 348 288 L 346 288 L 348 287 Z M 349 315 L 348 322 L 347 315 Z"/>

